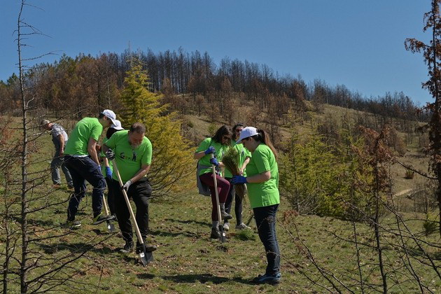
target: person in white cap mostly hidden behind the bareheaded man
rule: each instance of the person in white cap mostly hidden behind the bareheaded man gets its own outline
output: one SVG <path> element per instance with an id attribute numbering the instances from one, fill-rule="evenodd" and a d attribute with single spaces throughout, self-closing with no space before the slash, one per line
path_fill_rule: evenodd
<path id="1" fill-rule="evenodd" d="M 114 133 L 121 130 L 124 130 L 124 128 L 121 126 L 121 122 L 119 120 L 115 120 L 115 124 L 111 125 L 109 129 L 107 129 L 106 138 L 103 139 L 103 144 L 106 144 L 106 141 L 108 141 Z M 106 155 L 102 151 L 99 153 L 99 161 L 102 165 L 101 173 L 104 175 L 104 179 L 106 180 L 107 184 L 107 203 L 109 204 L 110 213 L 111 215 L 116 216 L 115 205 L 113 202 L 114 193 L 111 185 L 113 174 L 112 162 L 106 158 Z"/>

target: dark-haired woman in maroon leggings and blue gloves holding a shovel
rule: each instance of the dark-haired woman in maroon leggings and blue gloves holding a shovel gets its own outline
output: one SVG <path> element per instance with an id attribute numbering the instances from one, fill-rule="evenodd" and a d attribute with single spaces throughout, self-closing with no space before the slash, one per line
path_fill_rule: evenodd
<path id="1" fill-rule="evenodd" d="M 226 125 L 220 127 L 213 137 L 204 139 L 199 147 L 197 147 L 194 158 L 199 160 L 197 162 L 198 179 L 202 185 L 208 186 L 211 192 L 211 235 L 212 239 L 219 239 L 221 232 L 219 231 L 218 208 L 216 203 L 216 191 L 214 190 L 214 176 L 211 165 L 215 165 L 218 172 L 216 172 L 216 182 L 218 185 L 219 204 L 221 205 L 221 218 L 223 220 L 230 219 L 232 216 L 225 212 L 225 201 L 227 200 L 228 191 L 230 190 L 230 182 L 223 179 L 220 167 L 223 167 L 221 162 L 223 153 L 226 148 L 230 146 L 231 131 Z M 214 153 L 216 157 L 211 158 Z"/>

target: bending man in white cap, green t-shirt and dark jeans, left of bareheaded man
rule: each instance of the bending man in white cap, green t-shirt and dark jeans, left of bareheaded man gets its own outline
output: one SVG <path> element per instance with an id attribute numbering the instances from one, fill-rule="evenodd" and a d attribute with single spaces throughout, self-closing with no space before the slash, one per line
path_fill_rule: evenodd
<path id="1" fill-rule="evenodd" d="M 106 109 L 99 114 L 98 118 L 83 118 L 80 120 L 73 128 L 71 137 L 67 141 L 64 150 L 64 164 L 71 173 L 75 192 L 69 200 L 66 225 L 72 229 L 79 228 L 81 225 L 79 221 L 75 221 L 75 215 L 81 199 L 85 196 L 85 181 L 93 186 L 93 224 L 98 225 L 113 218 L 113 216 L 104 216 L 101 212 L 106 181 L 101 173 L 95 147 L 103 128 L 115 123 L 115 113 Z"/>

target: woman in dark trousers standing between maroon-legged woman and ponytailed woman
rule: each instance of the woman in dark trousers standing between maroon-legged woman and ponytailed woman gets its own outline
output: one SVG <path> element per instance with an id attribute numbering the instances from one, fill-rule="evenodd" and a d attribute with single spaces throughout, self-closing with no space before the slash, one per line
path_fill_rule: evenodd
<path id="1" fill-rule="evenodd" d="M 243 144 L 236 144 L 236 140 L 239 139 L 239 134 L 244 127 L 245 126 L 243 123 L 237 123 L 234 127 L 232 127 L 231 143 L 232 147 L 236 148 L 237 152 L 239 153 L 239 171 L 241 172 L 242 176 L 246 175 L 245 168 L 251 158 L 251 153 L 248 151 L 248 149 L 244 148 Z M 232 173 L 227 168 L 225 168 L 225 179 L 231 184 Z M 231 184 L 227 201 L 225 202 L 225 211 L 227 211 L 228 214 L 230 214 L 231 211 L 233 198 L 235 198 L 236 230 L 251 229 L 248 227 L 248 225 L 245 225 L 245 223 L 242 222 L 242 197 L 236 194 L 235 186 Z M 224 222 L 223 229 L 226 231 L 230 230 L 228 220 Z"/>

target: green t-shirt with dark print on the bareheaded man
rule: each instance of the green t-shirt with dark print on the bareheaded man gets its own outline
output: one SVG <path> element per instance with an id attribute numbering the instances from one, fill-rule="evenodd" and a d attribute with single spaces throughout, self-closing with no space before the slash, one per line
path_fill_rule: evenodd
<path id="1" fill-rule="evenodd" d="M 128 130 L 116 132 L 106 142 L 106 146 L 115 152 L 116 165 L 124 183 L 132 179 L 143 165 L 150 165 L 152 162 L 151 141 L 144 137 L 137 148 L 132 148 L 128 132 Z M 112 178 L 118 181 L 116 173 L 112 174 Z"/>

